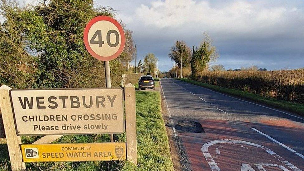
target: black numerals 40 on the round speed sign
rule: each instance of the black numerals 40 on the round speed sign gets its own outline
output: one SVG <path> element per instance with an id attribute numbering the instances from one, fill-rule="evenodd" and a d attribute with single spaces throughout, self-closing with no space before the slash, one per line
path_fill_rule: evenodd
<path id="1" fill-rule="evenodd" d="M 110 41 L 110 36 L 111 36 L 112 33 L 114 33 L 115 37 L 116 37 L 116 41 L 115 41 L 114 44 L 112 44 L 111 41 Z M 97 36 L 98 36 L 98 40 L 95 40 Z M 96 32 L 94 33 L 93 37 L 90 40 L 90 43 L 91 44 L 98 44 L 99 47 L 102 47 L 102 44 L 104 44 L 104 41 L 102 40 L 102 37 L 101 37 L 101 30 L 96 30 Z M 110 47 L 116 47 L 118 45 L 118 43 L 119 43 L 118 32 L 116 30 L 109 30 L 107 32 L 107 44 Z"/>

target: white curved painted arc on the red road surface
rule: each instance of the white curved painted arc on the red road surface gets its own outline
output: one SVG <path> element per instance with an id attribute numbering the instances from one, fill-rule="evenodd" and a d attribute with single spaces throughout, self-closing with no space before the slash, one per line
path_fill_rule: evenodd
<path id="1" fill-rule="evenodd" d="M 235 144 L 246 144 L 246 145 L 252 145 L 258 148 L 261 148 L 263 150 L 265 150 L 268 154 L 272 155 L 274 158 L 278 159 L 281 163 L 285 164 L 286 166 L 288 166 L 290 169 L 294 170 L 294 171 L 301 171 L 299 168 L 297 168 L 295 165 L 291 164 L 290 162 L 288 162 L 287 160 L 285 160 L 283 157 L 279 156 L 278 154 L 276 154 L 275 152 L 273 152 L 272 150 L 270 150 L 267 147 L 264 147 L 262 145 L 258 145 L 258 144 L 254 144 L 251 142 L 247 142 L 247 141 L 242 141 L 242 140 L 213 140 L 210 142 L 205 143 L 202 148 L 201 151 L 203 152 L 205 159 L 207 160 L 210 169 L 212 171 L 221 171 L 221 169 L 217 166 L 216 162 L 214 161 L 214 159 L 212 158 L 211 154 L 208 151 L 208 148 L 212 145 L 215 144 L 220 144 L 220 143 L 235 143 Z"/>

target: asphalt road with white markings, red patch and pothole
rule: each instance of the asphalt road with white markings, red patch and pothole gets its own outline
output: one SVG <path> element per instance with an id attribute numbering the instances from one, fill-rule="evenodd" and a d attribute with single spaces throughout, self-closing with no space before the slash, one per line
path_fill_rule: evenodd
<path id="1" fill-rule="evenodd" d="M 179 169 L 304 170 L 304 118 L 176 79 L 161 94 Z"/>

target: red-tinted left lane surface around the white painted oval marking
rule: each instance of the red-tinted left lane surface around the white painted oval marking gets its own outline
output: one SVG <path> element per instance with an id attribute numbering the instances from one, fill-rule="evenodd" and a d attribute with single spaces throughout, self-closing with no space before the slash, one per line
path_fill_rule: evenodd
<path id="1" fill-rule="evenodd" d="M 285 169 L 300 170 L 297 166 L 293 165 L 296 164 L 295 161 L 287 161 L 284 159 L 284 156 L 279 156 L 281 154 L 275 156 L 275 151 L 281 150 L 282 152 L 282 150 L 285 149 L 274 147 L 274 144 L 267 141 L 265 137 L 257 135 L 255 132 L 251 131 L 244 122 L 202 120 L 200 123 L 206 131 L 205 133 L 179 133 L 193 170 L 211 170 L 201 148 L 205 143 L 214 140 L 241 140 L 265 146 L 271 150 L 270 152 L 267 152 L 265 149 L 253 145 L 238 143 L 220 143 L 211 145 L 208 148 L 211 158 L 217 164 L 218 168 L 223 171 L 241 170 L 242 165 L 243 170 L 246 168 L 249 170 L 260 170 L 261 168 L 264 168 L 267 171 L 282 171 Z M 267 141 L 266 143 L 265 140 Z M 283 158 L 281 161 L 279 160 L 280 157 Z M 285 162 L 285 164 L 282 163 L 282 161 Z"/>

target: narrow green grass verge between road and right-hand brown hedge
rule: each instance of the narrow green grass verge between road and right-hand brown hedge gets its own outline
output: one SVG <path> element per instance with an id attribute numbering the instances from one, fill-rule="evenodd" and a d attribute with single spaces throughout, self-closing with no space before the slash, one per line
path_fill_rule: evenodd
<path id="1" fill-rule="evenodd" d="M 293 102 L 288 102 L 288 101 L 283 101 L 283 100 L 277 100 L 273 98 L 268 98 L 268 97 L 263 97 L 258 94 L 253 94 L 253 93 L 248 93 L 248 92 L 243 92 L 240 90 L 235 90 L 235 89 L 230 89 L 230 88 L 224 88 L 216 85 L 211 85 L 207 83 L 202 83 L 198 81 L 193 81 L 188 78 L 178 78 L 179 80 L 185 81 L 187 83 L 191 83 L 194 85 L 198 85 L 201 87 L 206 87 L 210 88 L 213 90 L 216 90 L 218 92 L 226 93 L 226 94 L 231 94 L 233 96 L 238 96 L 238 97 L 244 97 L 248 98 L 250 100 L 256 101 L 256 102 L 261 102 L 273 107 L 278 107 L 283 110 L 288 110 L 291 112 L 296 112 L 298 114 L 301 114 L 304 116 L 304 104 L 299 104 L 299 103 L 293 103 Z"/>

